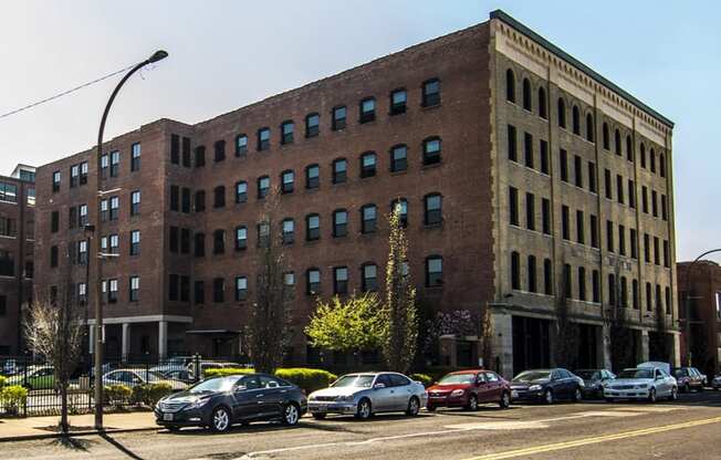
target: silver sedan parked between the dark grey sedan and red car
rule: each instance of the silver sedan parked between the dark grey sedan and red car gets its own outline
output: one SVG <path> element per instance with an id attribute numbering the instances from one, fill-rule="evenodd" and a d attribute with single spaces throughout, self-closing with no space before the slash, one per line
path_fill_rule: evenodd
<path id="1" fill-rule="evenodd" d="M 347 374 L 328 388 L 313 391 L 309 396 L 309 411 L 316 419 L 327 414 L 354 415 L 367 419 L 378 412 L 405 411 L 418 415 L 428 402 L 426 388 L 397 373 Z"/>

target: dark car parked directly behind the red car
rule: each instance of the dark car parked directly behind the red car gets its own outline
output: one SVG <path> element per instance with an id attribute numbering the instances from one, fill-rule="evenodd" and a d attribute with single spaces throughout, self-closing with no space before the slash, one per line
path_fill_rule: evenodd
<path id="1" fill-rule="evenodd" d="M 553 404 L 557 399 L 579 401 L 583 380 L 563 368 L 524 370 L 511 380 L 511 400 Z"/>

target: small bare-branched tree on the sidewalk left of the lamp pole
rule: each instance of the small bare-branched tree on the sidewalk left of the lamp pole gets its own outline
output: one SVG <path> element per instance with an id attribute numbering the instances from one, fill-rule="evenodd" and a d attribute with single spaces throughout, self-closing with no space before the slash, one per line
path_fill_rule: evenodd
<path id="1" fill-rule="evenodd" d="M 59 286 L 52 299 L 35 294 L 24 323 L 28 347 L 53 366 L 55 391 L 60 393 L 60 429 L 67 435 L 67 386 L 82 352 L 85 307 L 73 295 L 70 282 Z"/>

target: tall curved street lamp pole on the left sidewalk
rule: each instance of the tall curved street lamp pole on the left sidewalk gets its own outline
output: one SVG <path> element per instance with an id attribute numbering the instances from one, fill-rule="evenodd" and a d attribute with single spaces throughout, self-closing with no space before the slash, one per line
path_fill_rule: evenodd
<path id="1" fill-rule="evenodd" d="M 113 90 L 113 93 L 111 94 L 111 98 L 107 101 L 107 104 L 105 105 L 105 111 L 103 112 L 103 118 L 101 119 L 101 127 L 97 132 L 97 149 L 96 149 L 96 189 L 97 189 L 97 196 L 94 197 L 96 201 L 96 212 L 95 212 L 95 238 L 93 238 L 91 241 L 95 242 L 95 251 L 90 252 L 88 248 L 88 270 L 90 270 L 90 263 L 91 261 L 94 261 L 96 263 L 95 265 L 95 391 L 94 391 L 94 398 L 95 398 L 95 429 L 96 430 L 102 430 L 103 429 L 103 263 L 101 259 L 101 239 L 102 239 L 102 233 L 101 233 L 101 226 L 102 226 L 102 219 L 101 219 L 101 210 L 100 210 L 100 200 L 101 197 L 103 196 L 103 190 L 102 190 L 102 182 L 101 182 L 101 171 L 100 171 L 100 161 L 101 161 L 101 156 L 103 155 L 103 133 L 105 132 L 105 122 L 107 121 L 107 114 L 111 111 L 111 106 L 113 105 L 113 101 L 115 101 L 115 96 L 117 93 L 121 91 L 121 87 L 127 82 L 127 80 L 137 71 L 143 69 L 144 66 L 151 64 L 154 62 L 158 62 L 165 58 L 168 56 L 168 53 L 159 50 L 153 53 L 150 58 L 147 60 L 136 64 L 128 73 L 125 74 L 123 80 L 115 86 L 115 90 Z M 95 254 L 95 257 L 90 257 L 90 254 Z M 90 288 L 90 286 L 88 286 Z"/>

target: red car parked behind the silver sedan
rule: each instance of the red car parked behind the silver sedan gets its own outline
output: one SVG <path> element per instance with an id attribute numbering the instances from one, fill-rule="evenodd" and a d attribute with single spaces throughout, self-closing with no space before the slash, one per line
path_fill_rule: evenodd
<path id="1" fill-rule="evenodd" d="M 483 369 L 458 370 L 428 388 L 430 411 L 437 407 L 478 409 L 479 404 L 498 402 L 504 409 L 511 405 L 511 386 L 500 375 Z"/>

